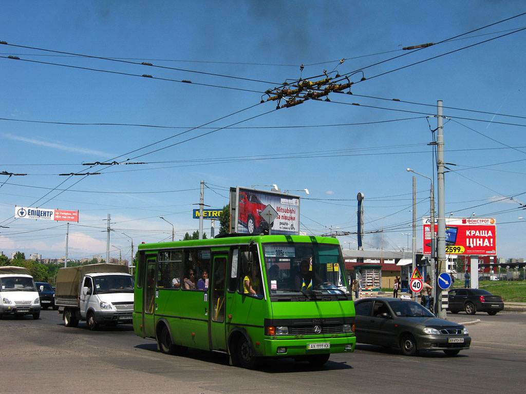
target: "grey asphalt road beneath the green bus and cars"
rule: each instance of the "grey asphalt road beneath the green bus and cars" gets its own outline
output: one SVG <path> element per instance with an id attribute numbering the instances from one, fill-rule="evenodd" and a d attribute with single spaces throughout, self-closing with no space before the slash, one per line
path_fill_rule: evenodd
<path id="1" fill-rule="evenodd" d="M 0 392 L 21 393 L 522 393 L 526 368 L 526 313 L 448 314 L 468 326 L 471 348 L 403 356 L 400 350 L 358 345 L 332 355 L 321 368 L 268 360 L 258 370 L 228 365 L 221 354 L 190 349 L 167 356 L 131 326 L 89 331 L 65 327 L 62 315 L 0 320 Z"/>

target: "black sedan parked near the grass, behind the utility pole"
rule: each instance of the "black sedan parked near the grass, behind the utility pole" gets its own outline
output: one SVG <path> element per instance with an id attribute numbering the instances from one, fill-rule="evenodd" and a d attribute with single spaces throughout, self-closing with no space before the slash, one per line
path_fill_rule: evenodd
<path id="1" fill-rule="evenodd" d="M 461 310 L 468 315 L 477 312 L 487 312 L 495 315 L 504 309 L 501 296 L 495 296 L 478 288 L 457 288 L 449 291 L 448 308 L 451 313 L 459 313 Z"/>

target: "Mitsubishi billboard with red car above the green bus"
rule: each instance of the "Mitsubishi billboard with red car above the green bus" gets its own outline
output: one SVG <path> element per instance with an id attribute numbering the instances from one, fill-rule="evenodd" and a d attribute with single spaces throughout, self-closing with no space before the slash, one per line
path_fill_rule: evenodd
<path id="1" fill-rule="evenodd" d="M 299 234 L 299 196 L 251 188 L 230 188 L 231 230 L 236 233 L 260 234 L 269 229 L 260 215 L 267 205 L 278 213 L 271 223 L 272 234 Z M 234 201 L 232 201 L 234 200 Z"/>

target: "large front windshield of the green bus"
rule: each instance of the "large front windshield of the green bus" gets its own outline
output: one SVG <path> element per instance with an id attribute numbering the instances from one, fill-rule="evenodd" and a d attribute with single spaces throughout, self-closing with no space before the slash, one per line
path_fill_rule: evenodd
<path id="1" fill-rule="evenodd" d="M 263 251 L 271 295 L 349 293 L 339 245 L 269 243 Z"/>

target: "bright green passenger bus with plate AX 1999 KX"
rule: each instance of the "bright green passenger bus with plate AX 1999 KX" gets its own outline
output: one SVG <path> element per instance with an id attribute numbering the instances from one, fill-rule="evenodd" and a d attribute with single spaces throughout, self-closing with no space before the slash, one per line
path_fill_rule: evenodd
<path id="1" fill-rule="evenodd" d="M 355 309 L 338 241 L 232 235 L 139 245 L 133 326 L 166 354 L 224 352 L 313 365 L 356 345 Z"/>

